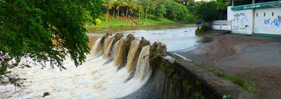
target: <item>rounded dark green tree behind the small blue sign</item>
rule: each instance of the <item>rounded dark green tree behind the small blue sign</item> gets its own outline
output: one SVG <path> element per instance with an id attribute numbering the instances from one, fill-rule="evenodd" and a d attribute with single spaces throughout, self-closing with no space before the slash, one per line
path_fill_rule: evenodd
<path id="1" fill-rule="evenodd" d="M 199 1 L 195 5 L 195 15 L 198 17 L 203 16 L 204 21 L 215 20 L 218 17 L 217 6 L 217 2 L 213 0 L 209 2 Z"/>

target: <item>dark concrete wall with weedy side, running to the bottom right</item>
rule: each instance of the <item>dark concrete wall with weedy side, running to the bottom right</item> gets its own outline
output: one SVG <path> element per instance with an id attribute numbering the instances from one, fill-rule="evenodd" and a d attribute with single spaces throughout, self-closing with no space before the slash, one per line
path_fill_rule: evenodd
<path id="1" fill-rule="evenodd" d="M 253 94 L 245 88 L 230 82 L 225 78 L 218 77 L 213 72 L 200 68 L 196 64 L 193 64 L 190 60 L 174 59 L 171 58 L 171 56 L 165 56 L 162 57 L 162 62 L 169 64 L 175 73 L 179 75 L 182 81 L 188 81 L 190 85 L 194 86 L 195 91 L 200 90 L 202 95 L 207 99 L 222 99 L 223 96 L 229 96 L 230 99 L 262 99 L 262 97 L 257 94 Z M 159 80 L 161 80 L 161 78 L 159 78 Z M 172 86 L 175 86 L 174 84 L 167 83 L 167 79 L 165 81 L 157 82 L 166 82 L 165 88 L 160 88 L 163 91 L 168 91 L 166 88 L 171 89 Z M 180 83 L 180 88 L 177 88 L 177 94 L 174 94 L 172 97 L 165 97 L 165 94 L 163 95 L 161 93 L 167 92 L 161 92 L 158 88 L 155 89 L 155 98 L 193 98 L 194 95 L 188 94 L 188 92 L 186 94 L 183 90 L 184 87 L 182 86 L 182 82 Z M 199 86 L 198 83 L 200 84 Z"/>

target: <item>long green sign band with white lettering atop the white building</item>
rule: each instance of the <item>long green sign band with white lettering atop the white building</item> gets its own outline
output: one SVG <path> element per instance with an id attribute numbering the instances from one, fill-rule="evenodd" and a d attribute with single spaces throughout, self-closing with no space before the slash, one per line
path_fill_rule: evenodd
<path id="1" fill-rule="evenodd" d="M 280 1 L 271 1 L 271 2 L 264 2 L 264 3 L 255 3 L 249 5 L 239 5 L 239 6 L 232 6 L 231 10 L 243 10 L 243 9 L 251 9 L 251 8 L 259 8 L 259 7 L 277 7 L 281 5 Z"/>

